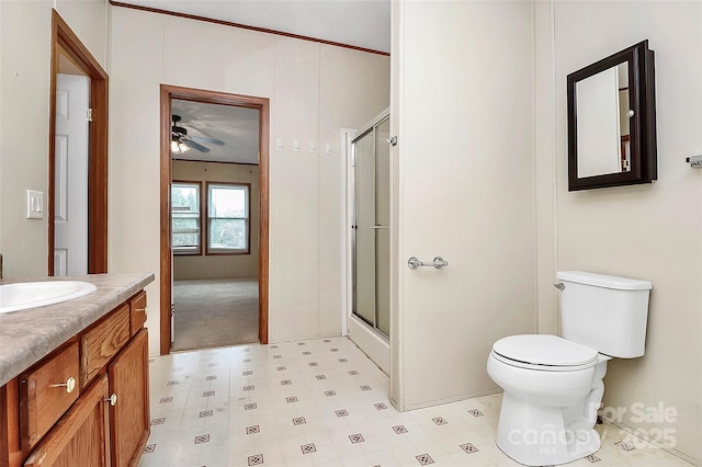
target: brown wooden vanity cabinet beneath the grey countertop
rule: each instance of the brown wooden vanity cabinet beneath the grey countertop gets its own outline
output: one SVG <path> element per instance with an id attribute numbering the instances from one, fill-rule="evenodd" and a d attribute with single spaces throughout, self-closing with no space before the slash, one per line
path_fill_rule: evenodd
<path id="1" fill-rule="evenodd" d="M 0 467 L 136 466 L 149 437 L 144 291 L 0 388 Z"/>

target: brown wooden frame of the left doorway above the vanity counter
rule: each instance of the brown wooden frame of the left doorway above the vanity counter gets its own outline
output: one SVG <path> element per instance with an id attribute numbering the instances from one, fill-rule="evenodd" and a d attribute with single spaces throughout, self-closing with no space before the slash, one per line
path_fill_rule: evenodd
<path id="1" fill-rule="evenodd" d="M 48 275 L 54 275 L 56 171 L 56 75 L 59 47 L 90 78 L 92 122 L 88 129 L 88 273 L 107 272 L 107 89 L 109 77 L 76 33 L 52 10 L 52 64 L 48 129 Z"/>

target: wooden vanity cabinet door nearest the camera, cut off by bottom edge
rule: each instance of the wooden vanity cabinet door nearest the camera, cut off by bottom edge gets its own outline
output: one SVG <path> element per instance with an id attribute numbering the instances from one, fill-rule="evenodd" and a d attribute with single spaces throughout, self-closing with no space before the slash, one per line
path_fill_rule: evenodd
<path id="1" fill-rule="evenodd" d="M 26 467 L 110 465 L 107 376 L 101 375 L 54 425 L 26 459 Z"/>

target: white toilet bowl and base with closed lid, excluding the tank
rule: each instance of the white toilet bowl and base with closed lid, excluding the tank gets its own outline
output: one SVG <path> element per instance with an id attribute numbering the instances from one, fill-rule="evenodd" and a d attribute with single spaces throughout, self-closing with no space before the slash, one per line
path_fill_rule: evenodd
<path id="1" fill-rule="evenodd" d="M 597 452 L 593 426 L 609 357 L 556 335 L 495 343 L 487 372 L 505 389 L 497 445 L 529 465 L 565 464 Z"/>

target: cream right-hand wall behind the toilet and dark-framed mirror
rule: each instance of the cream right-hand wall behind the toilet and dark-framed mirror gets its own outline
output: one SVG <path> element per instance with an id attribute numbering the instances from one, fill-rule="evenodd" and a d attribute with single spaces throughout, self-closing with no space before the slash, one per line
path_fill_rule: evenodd
<path id="1" fill-rule="evenodd" d="M 626 409 L 619 421 L 654 438 L 672 430 L 675 448 L 702 463 L 702 170 L 684 162 L 702 151 L 702 2 L 543 1 L 536 12 L 535 89 L 550 89 L 535 100 L 537 208 L 555 205 L 556 226 L 554 271 L 540 270 L 540 285 L 570 269 L 653 283 L 646 355 L 609 364 L 603 403 Z M 658 181 L 569 193 L 566 76 L 646 38 L 656 53 Z M 553 310 L 544 304 L 540 315 L 551 321 Z M 654 415 L 659 403 L 673 408 L 676 420 L 636 420 L 634 403 Z"/>

